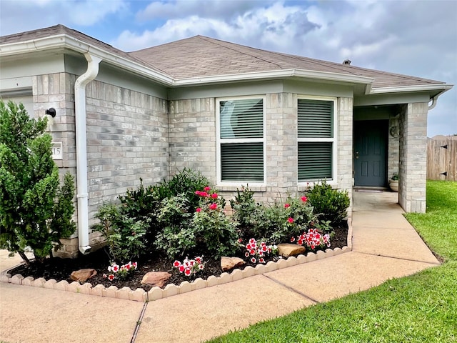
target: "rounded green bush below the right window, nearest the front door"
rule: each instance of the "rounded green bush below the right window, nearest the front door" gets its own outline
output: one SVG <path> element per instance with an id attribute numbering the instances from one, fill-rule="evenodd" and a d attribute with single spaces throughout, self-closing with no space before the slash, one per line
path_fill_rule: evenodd
<path id="1" fill-rule="evenodd" d="M 347 215 L 350 204 L 348 192 L 333 189 L 325 180 L 309 189 L 306 197 L 318 219 L 330 221 L 331 226 L 340 224 Z"/>

